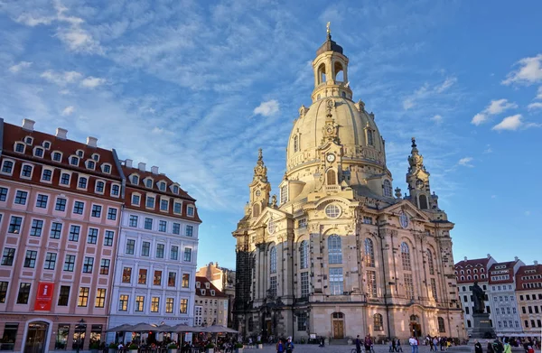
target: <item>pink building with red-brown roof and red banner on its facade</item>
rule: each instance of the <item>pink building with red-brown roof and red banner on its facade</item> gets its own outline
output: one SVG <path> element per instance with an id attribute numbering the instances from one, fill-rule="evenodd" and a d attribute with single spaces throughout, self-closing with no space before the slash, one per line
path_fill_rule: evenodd
<path id="1" fill-rule="evenodd" d="M 115 151 L 0 119 L 1 350 L 104 339 L 121 215 Z"/>

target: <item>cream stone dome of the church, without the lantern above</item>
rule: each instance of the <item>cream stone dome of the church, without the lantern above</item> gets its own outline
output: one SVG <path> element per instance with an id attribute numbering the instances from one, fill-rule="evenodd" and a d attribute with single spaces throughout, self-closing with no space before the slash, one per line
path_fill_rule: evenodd
<path id="1" fill-rule="evenodd" d="M 337 126 L 338 143 L 342 145 L 343 160 L 352 163 L 377 164 L 385 168 L 384 143 L 374 121 L 363 102 L 354 103 L 348 98 L 322 98 L 309 108 L 301 107 L 300 116 L 294 123 L 286 153 L 286 173 L 288 177 L 297 169 L 309 163 L 320 163 L 318 147 L 324 137 L 327 104 L 332 100 L 332 120 Z"/>

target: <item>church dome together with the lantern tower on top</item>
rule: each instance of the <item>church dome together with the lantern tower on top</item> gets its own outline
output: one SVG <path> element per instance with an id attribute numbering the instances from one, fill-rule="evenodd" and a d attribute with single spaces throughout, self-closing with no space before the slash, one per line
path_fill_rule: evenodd
<path id="1" fill-rule="evenodd" d="M 322 163 L 322 145 L 334 129 L 334 142 L 341 145 L 342 170 L 350 166 L 370 166 L 369 174 L 388 174 L 384 141 L 374 115 L 365 111 L 362 101 L 354 103 L 348 82 L 348 58 L 342 48 L 327 41 L 313 60 L 313 104 L 302 106 L 294 122 L 286 152 L 286 177 L 304 181 L 310 178 L 307 167 Z M 359 168 L 356 169 L 359 171 Z M 314 171 L 312 171 L 314 172 Z M 365 177 L 364 177 L 365 178 Z"/>

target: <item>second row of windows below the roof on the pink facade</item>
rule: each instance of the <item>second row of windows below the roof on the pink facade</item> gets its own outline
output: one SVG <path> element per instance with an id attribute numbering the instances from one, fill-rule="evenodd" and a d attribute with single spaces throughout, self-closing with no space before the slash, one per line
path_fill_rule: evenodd
<path id="1" fill-rule="evenodd" d="M 42 237 L 44 221 L 42 219 L 33 219 L 32 227 L 30 228 L 29 235 L 31 237 Z M 21 228 L 23 227 L 23 218 L 19 216 L 11 216 L 7 232 L 12 234 L 21 234 Z M 51 239 L 60 239 L 63 225 L 61 222 L 51 222 L 51 228 L 49 231 L 49 237 Z M 68 233 L 68 240 L 78 242 L 81 234 L 81 226 L 70 225 L 70 233 Z M 89 227 L 87 230 L 87 244 L 98 244 L 99 229 Z M 103 245 L 113 246 L 113 239 L 115 238 L 114 230 L 104 230 L 103 233 Z"/>

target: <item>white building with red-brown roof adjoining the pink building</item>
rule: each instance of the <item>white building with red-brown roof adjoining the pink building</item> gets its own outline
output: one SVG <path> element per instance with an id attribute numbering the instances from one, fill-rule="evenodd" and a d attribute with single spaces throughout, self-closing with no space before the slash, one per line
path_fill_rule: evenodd
<path id="1" fill-rule="evenodd" d="M 108 327 L 193 324 L 198 227 L 193 200 L 158 168 L 123 165 L 125 209 Z M 131 340 L 125 337 L 124 341 Z M 107 341 L 114 340 L 114 333 Z"/>

